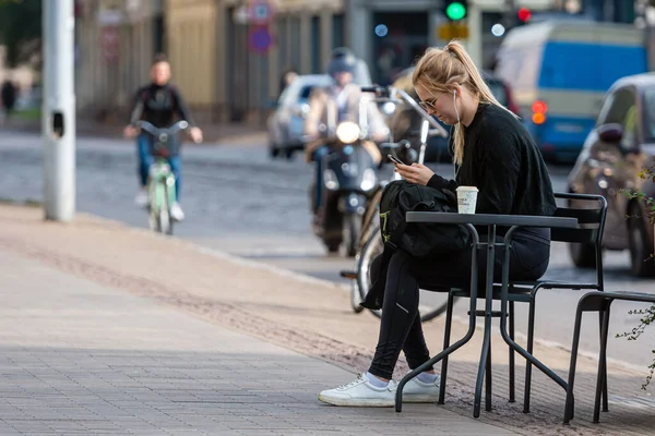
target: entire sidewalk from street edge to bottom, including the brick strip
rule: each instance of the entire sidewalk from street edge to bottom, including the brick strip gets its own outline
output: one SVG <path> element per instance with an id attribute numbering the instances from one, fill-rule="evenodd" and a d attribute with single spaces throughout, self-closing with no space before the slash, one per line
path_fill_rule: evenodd
<path id="1" fill-rule="evenodd" d="M 379 322 L 354 315 L 340 288 L 84 215 L 44 223 L 40 209 L 0 206 L 0 221 L 2 435 L 652 433 L 645 372 L 616 365 L 610 412 L 590 422 L 595 362 L 585 358 L 571 426 L 561 424 L 563 391 L 538 371 L 523 414 L 523 365 L 510 404 L 499 337 L 495 410 L 473 420 L 481 335 L 453 354 L 445 405 L 322 405 L 318 391 L 365 370 L 377 339 Z M 453 338 L 465 327 L 455 323 Z M 432 351 L 442 328 L 425 327 Z M 563 375 L 565 351 L 535 353 Z"/>

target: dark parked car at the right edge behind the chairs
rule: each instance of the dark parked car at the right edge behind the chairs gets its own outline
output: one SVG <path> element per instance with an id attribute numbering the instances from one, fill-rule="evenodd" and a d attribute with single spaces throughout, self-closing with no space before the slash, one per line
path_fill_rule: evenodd
<path id="1" fill-rule="evenodd" d="M 654 165 L 655 74 L 618 80 L 607 92 L 595 128 L 590 132 L 569 174 L 573 193 L 599 194 L 607 198 L 605 250 L 630 250 L 635 276 L 655 276 L 653 225 L 646 204 L 629 198 L 627 192 L 655 195 L 655 183 L 639 173 Z M 571 244 L 579 267 L 593 266 L 593 246 Z"/>

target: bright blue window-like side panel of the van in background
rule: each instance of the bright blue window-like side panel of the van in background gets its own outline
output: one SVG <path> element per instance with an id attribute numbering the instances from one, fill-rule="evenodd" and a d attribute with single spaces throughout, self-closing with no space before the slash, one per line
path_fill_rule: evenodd
<path id="1" fill-rule="evenodd" d="M 618 78 L 646 71 L 641 47 L 550 41 L 539 87 L 606 92 Z"/>

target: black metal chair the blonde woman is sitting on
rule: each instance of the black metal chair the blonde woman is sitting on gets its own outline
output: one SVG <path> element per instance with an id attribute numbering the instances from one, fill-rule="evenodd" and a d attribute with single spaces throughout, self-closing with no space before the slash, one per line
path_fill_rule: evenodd
<path id="1" fill-rule="evenodd" d="M 567 194 L 556 193 L 556 198 L 565 199 L 567 205 L 558 207 L 555 215 L 559 217 L 576 218 L 579 228 L 575 229 L 551 229 L 551 241 L 553 242 L 568 242 L 568 243 L 581 243 L 591 244 L 595 250 L 596 257 L 596 280 L 593 283 L 581 283 L 581 282 L 569 282 L 569 281 L 556 281 L 556 280 L 537 280 L 534 282 L 511 282 L 509 288 L 509 336 L 514 339 L 514 303 L 528 303 L 528 326 L 527 326 L 527 347 L 526 351 L 532 354 L 534 347 L 534 323 L 535 323 L 535 300 L 536 294 L 541 289 L 572 289 L 583 290 L 592 289 L 597 291 L 604 290 L 603 282 L 603 257 L 602 257 L 602 242 L 603 242 L 603 230 L 605 228 L 605 217 L 607 214 L 607 201 L 600 195 L 587 195 L 587 194 Z M 596 207 L 593 207 L 593 206 Z M 511 243 L 511 233 L 509 232 L 505 241 Z M 509 238 L 509 239 L 508 239 Z M 493 300 L 500 300 L 501 286 L 495 284 Z M 445 330 L 443 338 L 443 348 L 446 349 L 450 346 L 451 324 L 452 324 L 452 312 L 453 301 L 455 298 L 469 298 L 471 294 L 464 289 L 453 288 L 449 292 L 448 308 L 445 316 Z M 478 299 L 485 298 L 484 294 L 478 293 Z M 496 311 L 492 314 L 495 317 L 500 317 L 501 312 Z M 476 311 L 476 316 L 485 316 L 484 311 Z M 603 322 L 603 315 L 599 315 L 600 323 Z M 514 362 L 514 350 L 510 348 L 509 354 L 509 370 L 510 370 L 510 402 L 515 401 L 515 362 Z M 490 390 L 491 390 L 491 358 L 487 359 L 486 370 L 486 390 L 487 390 L 487 409 L 490 409 Z M 448 356 L 443 358 L 441 364 L 441 385 L 439 391 L 439 404 L 443 404 L 445 397 L 445 384 L 448 377 Z M 606 374 L 604 373 L 604 378 Z M 529 412 L 529 396 L 531 396 L 531 384 L 532 384 L 532 363 L 526 361 L 525 367 L 525 391 L 524 391 L 524 413 Z M 607 398 L 607 391 L 604 392 Z"/>

